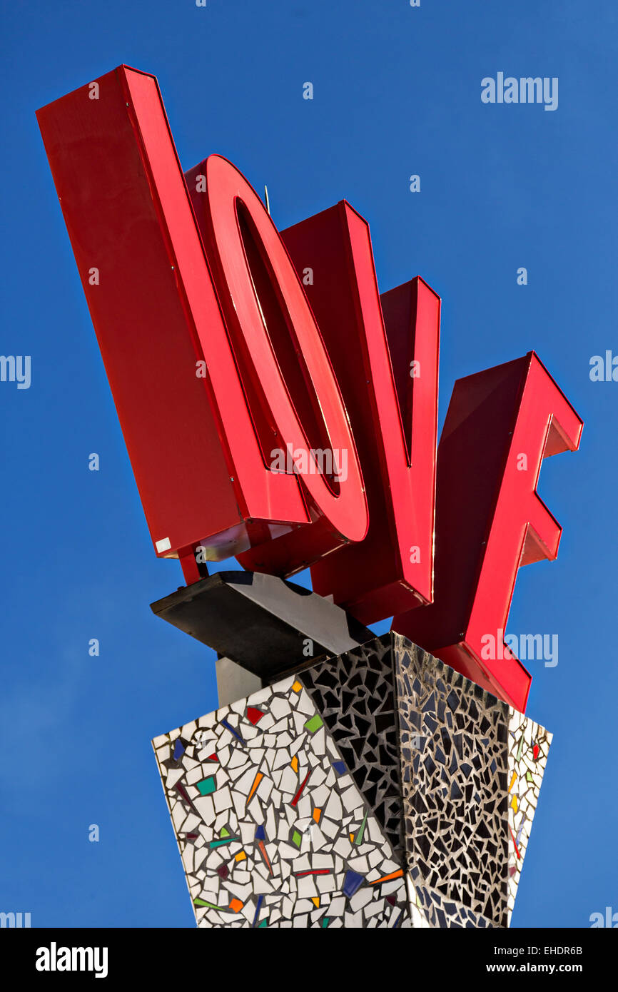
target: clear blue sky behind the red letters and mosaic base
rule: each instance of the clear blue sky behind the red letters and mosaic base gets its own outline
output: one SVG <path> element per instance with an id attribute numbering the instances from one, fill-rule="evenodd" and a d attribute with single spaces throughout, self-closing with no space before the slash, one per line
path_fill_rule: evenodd
<path id="1" fill-rule="evenodd" d="M 618 910 L 618 383 L 588 376 L 618 352 L 615 3 L 34 0 L 2 18 L 0 351 L 32 356 L 32 384 L 0 383 L 0 910 L 192 925 L 149 742 L 214 708 L 214 656 L 150 611 L 182 573 L 152 551 L 35 119 L 120 62 L 158 76 L 184 168 L 227 156 L 280 227 L 346 197 L 381 289 L 431 284 L 440 422 L 457 377 L 531 348 L 583 417 L 580 451 L 541 476 L 560 554 L 520 572 L 508 627 L 559 637 L 556 668 L 531 663 L 555 743 L 513 925 Z M 557 76 L 557 110 L 483 104 L 498 71 Z"/>

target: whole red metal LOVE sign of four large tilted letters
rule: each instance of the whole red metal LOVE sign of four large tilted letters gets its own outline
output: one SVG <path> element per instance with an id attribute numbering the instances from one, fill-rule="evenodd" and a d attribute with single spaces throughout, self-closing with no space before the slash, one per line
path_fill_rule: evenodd
<path id="1" fill-rule="evenodd" d="M 436 472 L 439 299 L 380 296 L 349 203 L 280 233 L 226 159 L 184 175 L 156 78 L 126 66 L 38 118 L 157 554 L 187 583 L 197 549 L 310 565 L 523 710 L 530 675 L 483 638 L 520 564 L 556 558 L 536 485 L 582 429 L 534 352 L 455 384 Z"/>

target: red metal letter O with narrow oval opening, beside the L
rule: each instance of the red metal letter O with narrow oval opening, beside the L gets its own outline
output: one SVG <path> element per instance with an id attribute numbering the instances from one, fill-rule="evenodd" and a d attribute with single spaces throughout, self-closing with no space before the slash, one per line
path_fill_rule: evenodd
<path id="1" fill-rule="evenodd" d="M 277 458 L 296 463 L 313 521 L 303 534 L 275 538 L 241 560 L 248 568 L 289 575 L 299 561 L 309 564 L 339 547 L 342 537 L 356 542 L 367 533 L 347 412 L 300 279 L 255 190 L 218 155 L 190 170 L 186 180 L 249 400 L 262 471 Z M 326 452 L 333 452 L 335 464 L 324 471 Z M 298 467 L 304 456 L 305 471 Z"/>

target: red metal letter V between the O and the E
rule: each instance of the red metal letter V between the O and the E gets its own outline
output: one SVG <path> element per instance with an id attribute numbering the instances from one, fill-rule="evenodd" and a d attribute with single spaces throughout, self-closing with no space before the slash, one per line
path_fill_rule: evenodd
<path id="1" fill-rule="evenodd" d="M 369 502 L 366 539 L 317 561 L 313 589 L 372 623 L 432 600 L 439 299 L 419 278 L 380 298 L 369 225 L 344 200 L 282 237 L 311 273 Z"/>

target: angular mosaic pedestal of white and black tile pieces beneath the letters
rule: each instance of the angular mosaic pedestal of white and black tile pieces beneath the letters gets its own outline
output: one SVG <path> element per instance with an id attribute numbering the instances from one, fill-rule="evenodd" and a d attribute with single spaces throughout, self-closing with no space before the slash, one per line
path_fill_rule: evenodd
<path id="1" fill-rule="evenodd" d="M 197 926 L 508 926 L 550 742 L 398 634 L 155 738 Z"/>

